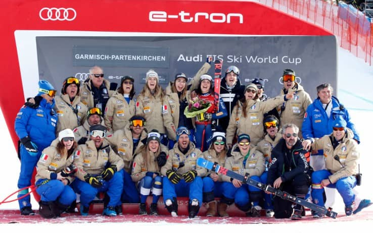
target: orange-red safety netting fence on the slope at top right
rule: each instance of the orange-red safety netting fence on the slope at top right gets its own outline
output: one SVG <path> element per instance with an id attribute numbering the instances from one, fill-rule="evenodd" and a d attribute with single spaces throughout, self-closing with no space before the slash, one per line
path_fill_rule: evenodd
<path id="1" fill-rule="evenodd" d="M 259 0 L 261 4 L 313 23 L 333 33 L 339 45 L 370 66 L 373 63 L 373 21 L 351 5 L 323 0 Z M 340 1 L 341 2 L 341 1 Z"/>

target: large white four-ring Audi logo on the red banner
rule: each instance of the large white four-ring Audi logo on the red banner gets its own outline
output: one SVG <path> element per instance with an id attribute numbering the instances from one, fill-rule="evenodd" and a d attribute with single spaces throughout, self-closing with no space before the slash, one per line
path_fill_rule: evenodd
<path id="1" fill-rule="evenodd" d="M 76 18 L 76 11 L 72 8 L 48 8 L 44 7 L 39 12 L 39 17 L 42 20 L 52 21 L 72 21 Z"/>

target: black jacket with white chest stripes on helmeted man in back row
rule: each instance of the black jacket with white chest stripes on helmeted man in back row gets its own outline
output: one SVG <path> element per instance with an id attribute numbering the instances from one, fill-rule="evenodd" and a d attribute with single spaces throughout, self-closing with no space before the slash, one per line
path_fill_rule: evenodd
<path id="1" fill-rule="evenodd" d="M 225 78 L 222 78 L 220 83 L 220 98 L 223 100 L 228 115 L 225 118 L 219 119 L 219 126 L 225 132 L 228 127 L 230 114 L 232 113 L 233 107 L 236 105 L 237 101 L 244 97 L 245 85 L 241 85 L 240 79 L 237 79 L 237 83 L 234 88 L 226 88 Z"/>

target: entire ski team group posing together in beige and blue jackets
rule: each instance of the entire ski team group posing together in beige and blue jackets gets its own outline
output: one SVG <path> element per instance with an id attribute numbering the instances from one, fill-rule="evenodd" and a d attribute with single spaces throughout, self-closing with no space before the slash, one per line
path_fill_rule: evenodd
<path id="1" fill-rule="evenodd" d="M 336 188 L 346 215 L 371 204 L 354 194 L 360 142 L 347 109 L 330 84 L 316 88 L 317 98 L 284 70 L 279 95 L 264 94 L 264 80 L 245 86 L 240 70 L 229 66 L 215 100 L 212 57 L 190 82 L 175 75 L 165 90 L 156 71 L 136 96 L 135 79 L 124 76 L 118 88 L 104 78 L 101 67 L 89 69 L 83 83 L 68 77 L 61 94 L 45 80 L 38 93 L 21 107 L 15 121 L 20 138 L 20 189 L 31 185 L 34 167 L 39 214 L 59 217 L 74 209 L 80 214 L 101 195 L 104 215 L 122 213 L 122 203 L 139 203 L 139 214 L 158 215 L 158 200 L 177 216 L 177 197 L 189 197 L 189 217 L 203 203 L 207 216 L 228 216 L 234 204 L 247 216 L 300 219 L 299 204 L 273 197 L 241 181 L 197 166 L 203 157 L 298 198 L 311 196 L 323 206 L 324 187 Z M 211 103 L 205 112 L 187 117 L 192 100 Z M 217 107 L 218 106 L 218 107 Z M 336 157 L 338 159 L 336 159 Z M 19 193 L 22 215 L 32 215 L 27 190 Z M 216 201 L 219 198 L 219 201 Z M 313 212 L 313 217 L 322 213 Z"/>

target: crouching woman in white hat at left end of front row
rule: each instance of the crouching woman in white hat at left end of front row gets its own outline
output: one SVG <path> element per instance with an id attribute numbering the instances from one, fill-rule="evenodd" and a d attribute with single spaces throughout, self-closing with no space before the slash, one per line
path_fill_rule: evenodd
<path id="1" fill-rule="evenodd" d="M 75 179 L 73 161 L 76 147 L 72 130 L 62 130 L 57 145 L 45 148 L 37 162 L 35 185 L 40 195 L 39 214 L 44 218 L 60 217 L 76 200 L 76 194 L 69 186 Z"/>

